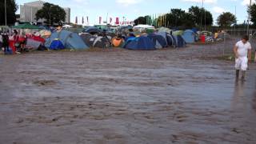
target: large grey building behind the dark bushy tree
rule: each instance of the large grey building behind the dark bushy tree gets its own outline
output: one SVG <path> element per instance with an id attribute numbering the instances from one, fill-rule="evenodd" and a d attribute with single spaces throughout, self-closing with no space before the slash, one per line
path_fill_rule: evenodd
<path id="1" fill-rule="evenodd" d="M 45 2 L 39 0 L 35 2 L 24 3 L 20 6 L 20 22 L 42 22 L 42 20 L 37 21 L 35 14 L 38 10 L 42 9 Z M 62 7 L 63 8 L 63 7 Z M 63 8 L 66 12 L 66 23 L 70 23 L 70 8 Z"/>

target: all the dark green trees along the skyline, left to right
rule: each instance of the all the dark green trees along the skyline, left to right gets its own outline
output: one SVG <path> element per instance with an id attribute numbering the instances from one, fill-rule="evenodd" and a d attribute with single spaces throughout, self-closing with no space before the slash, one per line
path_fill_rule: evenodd
<path id="1" fill-rule="evenodd" d="M 5 17 L 5 1 L 0 1 L 0 25 L 5 25 L 5 18 L 7 18 L 7 24 L 13 25 L 17 22 L 15 12 L 18 10 L 18 5 L 15 0 L 6 0 L 6 17 Z M 248 6 L 248 14 L 250 14 L 250 22 L 252 26 L 256 28 L 256 4 Z M 54 24 L 59 22 L 65 22 L 66 13 L 60 6 L 50 4 L 46 2 L 41 10 L 38 10 L 36 19 L 45 19 L 46 24 Z M 150 24 L 153 26 L 166 26 L 177 28 L 191 28 L 191 27 L 203 27 L 213 25 L 213 16 L 210 11 L 200 8 L 198 6 L 191 6 L 188 12 L 182 9 L 171 9 L 169 13 L 159 16 L 146 15 L 145 17 L 138 17 L 134 20 L 135 25 L 138 24 Z M 229 28 L 237 23 L 237 18 L 230 12 L 224 12 L 217 18 L 218 26 L 222 28 Z M 242 26 L 245 26 L 245 21 Z"/>

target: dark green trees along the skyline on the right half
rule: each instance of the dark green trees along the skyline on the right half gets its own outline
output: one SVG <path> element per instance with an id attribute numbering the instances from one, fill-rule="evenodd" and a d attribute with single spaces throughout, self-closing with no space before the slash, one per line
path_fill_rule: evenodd
<path id="1" fill-rule="evenodd" d="M 256 4 L 248 6 L 247 12 L 250 14 L 250 21 L 253 23 L 253 26 L 256 27 Z M 157 27 L 166 26 L 181 29 L 209 27 L 213 25 L 213 22 L 214 19 L 210 11 L 198 6 L 191 6 L 188 12 L 182 9 L 171 9 L 167 14 L 160 16 L 146 15 L 134 20 L 135 25 L 148 24 Z M 246 25 L 246 21 L 243 24 L 237 25 L 237 18 L 234 14 L 223 12 L 218 16 L 217 24 L 221 28 L 230 28 L 230 26 L 234 25 L 242 27 Z"/>

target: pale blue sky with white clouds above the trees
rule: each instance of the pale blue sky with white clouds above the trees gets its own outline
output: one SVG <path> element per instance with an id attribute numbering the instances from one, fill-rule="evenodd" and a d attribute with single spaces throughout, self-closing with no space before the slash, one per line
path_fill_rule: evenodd
<path id="1" fill-rule="evenodd" d="M 82 17 L 89 17 L 89 24 L 97 24 L 99 17 L 104 21 L 119 18 L 120 21 L 133 21 L 139 16 L 166 14 L 170 9 L 179 8 L 188 10 L 190 6 L 202 6 L 202 0 L 43 0 L 44 2 L 54 3 L 62 7 L 70 7 L 71 22 L 75 22 L 78 16 L 78 24 L 82 24 Z M 214 16 L 214 25 L 216 19 L 222 12 L 236 14 L 238 23 L 243 23 L 248 14 L 246 12 L 250 0 L 203 0 L 203 6 Z M 18 6 L 34 0 L 16 0 Z M 255 0 L 252 0 L 255 2 Z M 17 14 L 19 14 L 19 10 Z"/>

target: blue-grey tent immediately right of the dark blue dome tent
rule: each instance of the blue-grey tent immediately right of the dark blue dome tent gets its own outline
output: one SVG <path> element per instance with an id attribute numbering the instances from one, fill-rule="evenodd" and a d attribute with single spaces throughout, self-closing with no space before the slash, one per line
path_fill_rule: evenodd
<path id="1" fill-rule="evenodd" d="M 163 48 L 167 46 L 166 39 L 160 34 L 149 34 L 147 36 L 152 42 L 154 42 L 155 48 Z"/>

